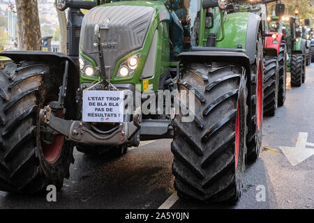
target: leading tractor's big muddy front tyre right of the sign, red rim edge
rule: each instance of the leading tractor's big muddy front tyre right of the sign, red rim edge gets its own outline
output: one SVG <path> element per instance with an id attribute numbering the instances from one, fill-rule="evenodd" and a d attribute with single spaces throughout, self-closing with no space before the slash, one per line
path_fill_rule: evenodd
<path id="1" fill-rule="evenodd" d="M 206 77 L 206 78 L 204 78 Z M 179 91 L 195 91 L 195 118 L 172 121 L 172 172 L 178 196 L 206 202 L 237 201 L 244 178 L 247 109 L 244 69 L 213 63 L 189 64 Z M 188 98 L 188 97 L 187 97 Z M 181 105 L 188 102 L 181 102 Z"/>

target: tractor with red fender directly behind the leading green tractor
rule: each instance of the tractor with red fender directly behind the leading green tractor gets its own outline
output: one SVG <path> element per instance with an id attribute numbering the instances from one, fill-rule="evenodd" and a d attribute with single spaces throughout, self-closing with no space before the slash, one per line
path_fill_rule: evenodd
<path id="1" fill-rule="evenodd" d="M 286 93 L 286 46 L 283 33 L 269 29 L 267 3 L 250 1 L 237 3 L 237 10 L 262 17 L 264 55 L 264 116 L 274 116 L 278 106 L 283 106 Z M 276 17 L 285 13 L 285 4 L 276 3 Z"/>

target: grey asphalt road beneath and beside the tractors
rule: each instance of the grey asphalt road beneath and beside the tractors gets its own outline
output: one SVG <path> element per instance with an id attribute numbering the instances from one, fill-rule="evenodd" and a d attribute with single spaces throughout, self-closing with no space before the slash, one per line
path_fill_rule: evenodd
<path id="1" fill-rule="evenodd" d="M 264 118 L 262 151 L 257 162 L 246 169 L 241 200 L 232 205 L 205 205 L 174 199 L 167 208 L 313 209 L 314 155 L 292 166 L 280 146 L 296 146 L 299 132 L 307 132 L 307 142 L 314 144 L 314 64 L 307 67 L 305 84 L 292 89 L 288 84 L 287 88 L 285 105 L 276 116 Z M 47 202 L 45 195 L 0 192 L 0 208 L 158 208 L 170 196 L 176 197 L 170 142 L 144 141 L 115 160 L 75 150 L 75 164 L 57 193 L 57 202 Z M 257 201 L 261 188 L 266 196 Z"/>

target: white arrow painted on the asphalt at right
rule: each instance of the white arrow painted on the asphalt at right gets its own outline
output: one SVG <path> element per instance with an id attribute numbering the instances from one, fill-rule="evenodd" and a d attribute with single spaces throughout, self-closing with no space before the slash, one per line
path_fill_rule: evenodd
<path id="1" fill-rule="evenodd" d="M 295 166 L 300 162 L 303 162 L 308 157 L 311 157 L 314 154 L 314 148 L 306 148 L 307 146 L 314 146 L 314 144 L 306 142 L 308 139 L 307 132 L 299 132 L 299 137 L 297 139 L 297 144 L 295 147 L 279 146 L 281 151 L 287 157 L 287 160 Z"/>

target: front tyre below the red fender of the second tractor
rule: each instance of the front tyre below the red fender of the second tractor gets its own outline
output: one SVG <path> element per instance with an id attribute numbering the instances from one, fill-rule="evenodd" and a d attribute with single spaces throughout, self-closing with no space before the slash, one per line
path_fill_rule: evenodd
<path id="1" fill-rule="evenodd" d="M 274 116 L 278 108 L 278 62 L 276 56 L 264 57 L 264 116 Z"/>

